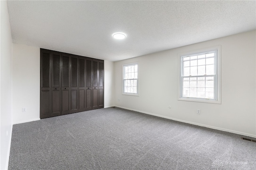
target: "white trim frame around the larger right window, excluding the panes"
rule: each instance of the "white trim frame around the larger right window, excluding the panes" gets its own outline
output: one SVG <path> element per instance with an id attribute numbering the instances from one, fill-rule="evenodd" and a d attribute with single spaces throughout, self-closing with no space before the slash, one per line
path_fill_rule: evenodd
<path id="1" fill-rule="evenodd" d="M 181 57 L 184 55 L 194 55 L 198 53 L 204 53 L 208 52 L 211 50 L 218 50 L 217 51 L 217 70 L 216 70 L 216 75 L 217 75 L 217 99 L 196 99 L 196 98 L 182 98 L 181 97 Z M 208 47 L 204 49 L 198 49 L 194 51 L 188 51 L 186 53 L 178 53 L 177 56 L 177 61 L 178 61 L 178 100 L 179 101 L 192 101 L 192 102 L 202 102 L 202 103 L 215 103 L 215 104 L 221 104 L 221 45 L 217 45 L 214 47 Z"/>

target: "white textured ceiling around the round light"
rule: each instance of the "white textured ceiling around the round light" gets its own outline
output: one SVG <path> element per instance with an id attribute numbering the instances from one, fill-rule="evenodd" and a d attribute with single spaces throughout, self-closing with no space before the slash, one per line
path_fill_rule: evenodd
<path id="1" fill-rule="evenodd" d="M 256 29 L 255 0 L 7 4 L 14 43 L 109 61 Z M 126 38 L 115 40 L 115 32 Z"/>

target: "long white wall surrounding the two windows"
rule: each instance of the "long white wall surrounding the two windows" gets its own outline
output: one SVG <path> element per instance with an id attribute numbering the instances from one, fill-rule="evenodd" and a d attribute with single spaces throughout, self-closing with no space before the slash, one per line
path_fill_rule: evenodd
<path id="1" fill-rule="evenodd" d="M 222 104 L 178 101 L 177 54 L 216 45 L 221 45 L 222 52 Z M 122 95 L 122 65 L 133 62 L 139 62 L 139 97 Z M 117 61 L 114 103 L 142 113 L 256 137 L 255 62 L 255 31 Z M 196 114 L 197 109 L 201 109 L 201 115 Z"/>

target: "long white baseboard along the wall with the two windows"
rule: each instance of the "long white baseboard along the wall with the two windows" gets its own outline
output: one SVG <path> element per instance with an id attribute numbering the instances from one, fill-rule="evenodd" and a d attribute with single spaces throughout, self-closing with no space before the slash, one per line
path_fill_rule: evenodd
<path id="1" fill-rule="evenodd" d="M 238 131 L 230 130 L 230 129 L 226 129 L 226 128 L 213 127 L 213 126 L 204 125 L 204 124 L 200 124 L 200 123 L 194 123 L 194 122 L 190 122 L 190 121 L 183 121 L 183 120 L 180 120 L 180 119 L 175 119 L 175 118 L 166 117 L 166 116 L 162 116 L 162 115 L 157 115 L 157 114 L 153 114 L 153 113 L 148 113 L 148 112 L 144 112 L 144 111 L 138 111 L 138 110 L 135 110 L 135 109 L 130 109 L 130 108 L 121 107 L 121 106 L 115 106 L 115 107 L 120 107 L 122 109 L 127 109 L 127 110 L 131 110 L 131 111 L 145 113 L 145 114 L 148 114 L 148 115 L 153 115 L 153 116 L 157 116 L 157 117 L 171 119 L 171 120 L 178 121 L 178 122 L 189 123 L 189 124 L 192 124 L 192 125 L 198 125 L 200 127 L 207 127 L 207 128 L 212 128 L 212 129 L 216 129 L 216 130 L 222 130 L 222 131 L 225 131 L 225 132 L 231 132 L 231 133 L 236 133 L 236 134 L 241 134 L 241 135 L 244 135 L 244 136 L 250 136 L 250 137 L 256 138 L 256 135 L 254 135 L 254 134 L 238 132 Z"/>

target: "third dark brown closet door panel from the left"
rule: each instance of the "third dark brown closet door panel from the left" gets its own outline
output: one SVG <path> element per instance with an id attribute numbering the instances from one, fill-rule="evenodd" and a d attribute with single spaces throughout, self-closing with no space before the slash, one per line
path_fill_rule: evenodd
<path id="1" fill-rule="evenodd" d="M 62 53 L 61 115 L 70 113 L 70 57 Z"/>

